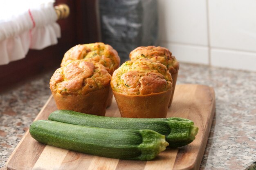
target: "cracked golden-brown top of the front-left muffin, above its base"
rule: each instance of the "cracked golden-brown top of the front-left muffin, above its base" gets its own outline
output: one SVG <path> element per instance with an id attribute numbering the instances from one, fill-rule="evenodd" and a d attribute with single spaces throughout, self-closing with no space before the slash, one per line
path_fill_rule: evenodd
<path id="1" fill-rule="evenodd" d="M 61 95 L 85 95 L 108 86 L 110 80 L 111 75 L 102 64 L 76 60 L 55 71 L 50 88 Z"/>

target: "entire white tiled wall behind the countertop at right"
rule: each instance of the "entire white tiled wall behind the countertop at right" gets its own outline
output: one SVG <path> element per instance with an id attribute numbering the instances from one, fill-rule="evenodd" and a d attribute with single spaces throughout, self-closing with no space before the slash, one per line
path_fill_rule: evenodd
<path id="1" fill-rule="evenodd" d="M 256 71 L 256 0 L 158 0 L 160 45 L 181 62 Z"/>

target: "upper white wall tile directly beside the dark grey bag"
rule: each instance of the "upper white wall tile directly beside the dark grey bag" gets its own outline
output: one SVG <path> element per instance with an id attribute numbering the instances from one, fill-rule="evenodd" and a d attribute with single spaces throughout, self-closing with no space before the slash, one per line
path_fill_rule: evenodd
<path id="1" fill-rule="evenodd" d="M 205 0 L 158 0 L 161 40 L 207 46 Z"/>

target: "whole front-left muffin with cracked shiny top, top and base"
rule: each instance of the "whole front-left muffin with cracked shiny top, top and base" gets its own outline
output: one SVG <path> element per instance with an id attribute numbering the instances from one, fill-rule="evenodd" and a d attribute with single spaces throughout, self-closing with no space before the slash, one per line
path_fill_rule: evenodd
<path id="1" fill-rule="evenodd" d="M 102 64 L 76 60 L 58 68 L 49 84 L 58 109 L 104 116 L 110 79 Z"/>

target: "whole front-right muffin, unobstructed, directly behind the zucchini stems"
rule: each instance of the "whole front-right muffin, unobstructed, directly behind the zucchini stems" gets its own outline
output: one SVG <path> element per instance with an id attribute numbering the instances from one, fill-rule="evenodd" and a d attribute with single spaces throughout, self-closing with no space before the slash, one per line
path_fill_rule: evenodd
<path id="1" fill-rule="evenodd" d="M 172 78 L 160 62 L 125 62 L 113 73 L 111 87 L 122 117 L 166 117 Z"/>

